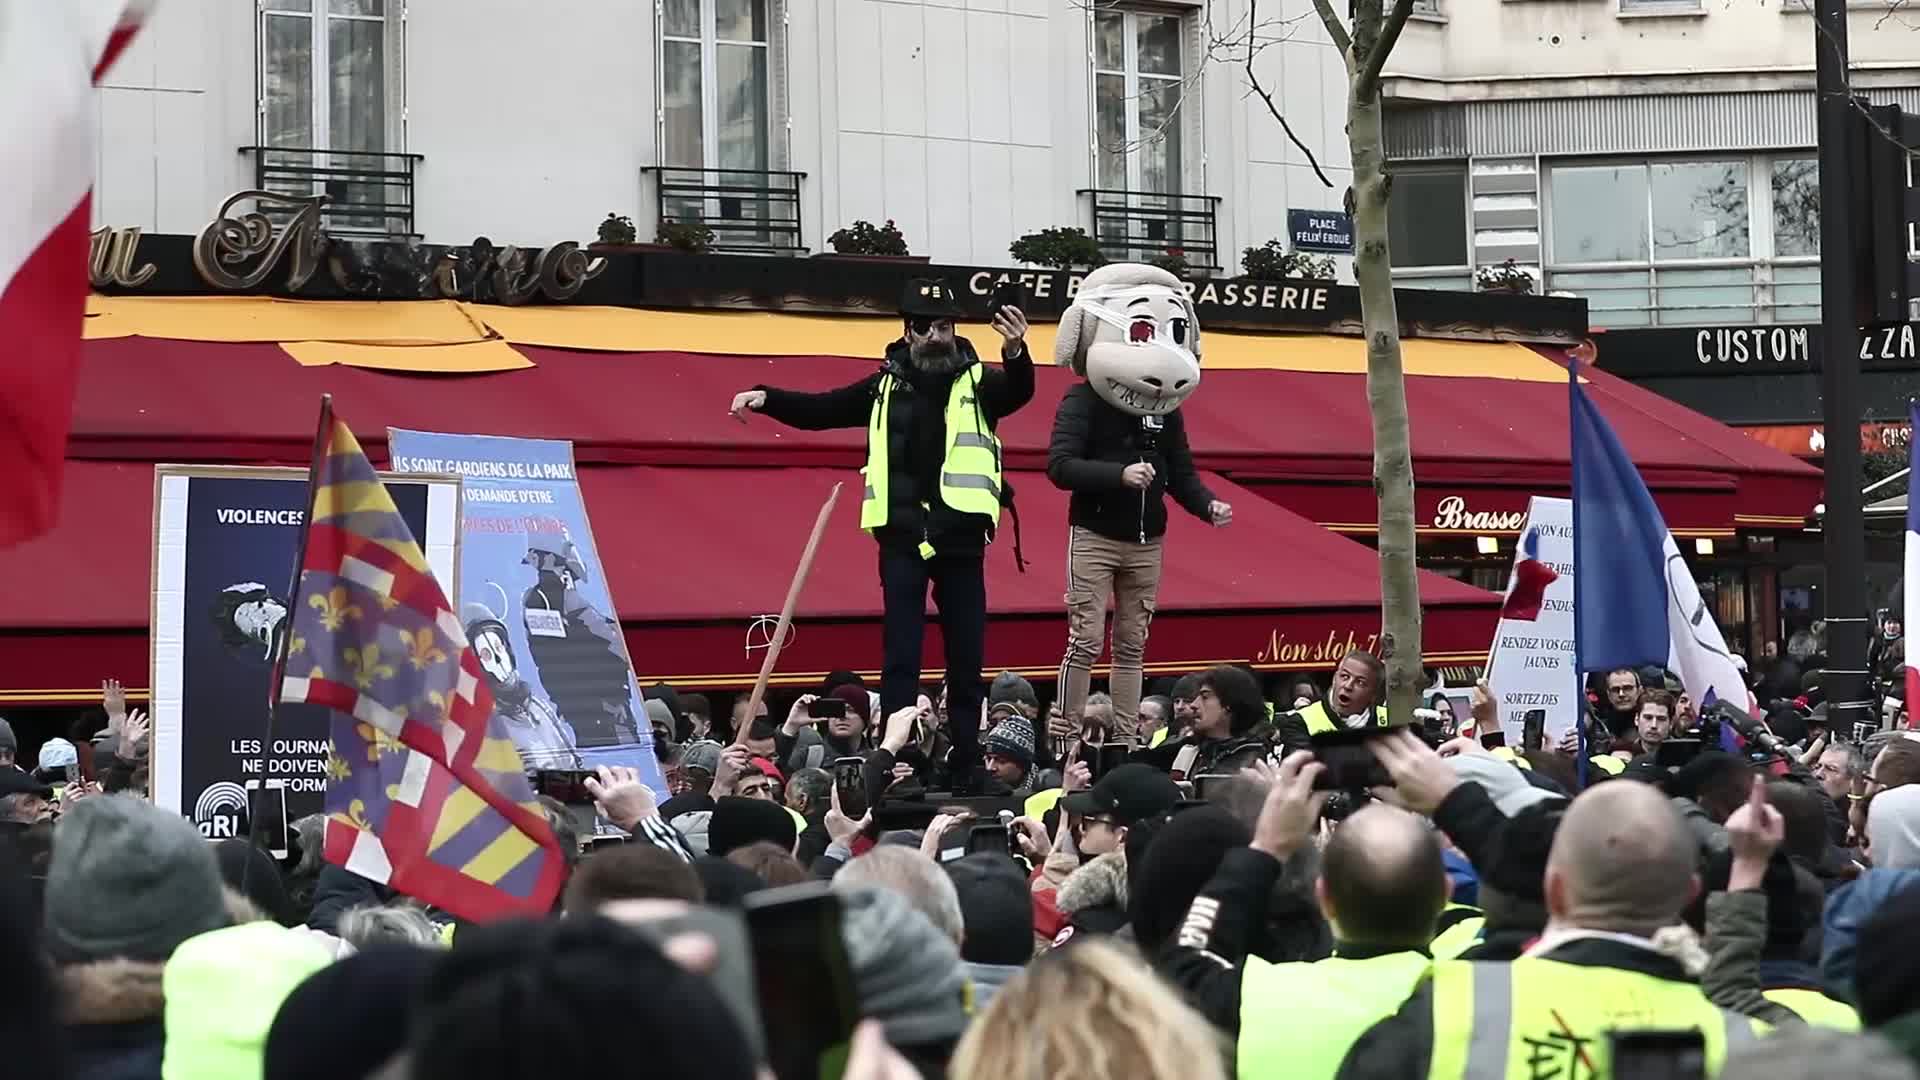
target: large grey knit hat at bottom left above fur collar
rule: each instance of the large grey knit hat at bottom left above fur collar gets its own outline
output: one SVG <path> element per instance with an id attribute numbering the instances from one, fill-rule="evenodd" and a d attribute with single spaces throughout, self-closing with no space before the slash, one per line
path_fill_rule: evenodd
<path id="1" fill-rule="evenodd" d="M 157 963 L 227 922 L 213 847 L 186 819 L 131 796 L 94 796 L 61 819 L 46 871 L 54 959 Z"/>

